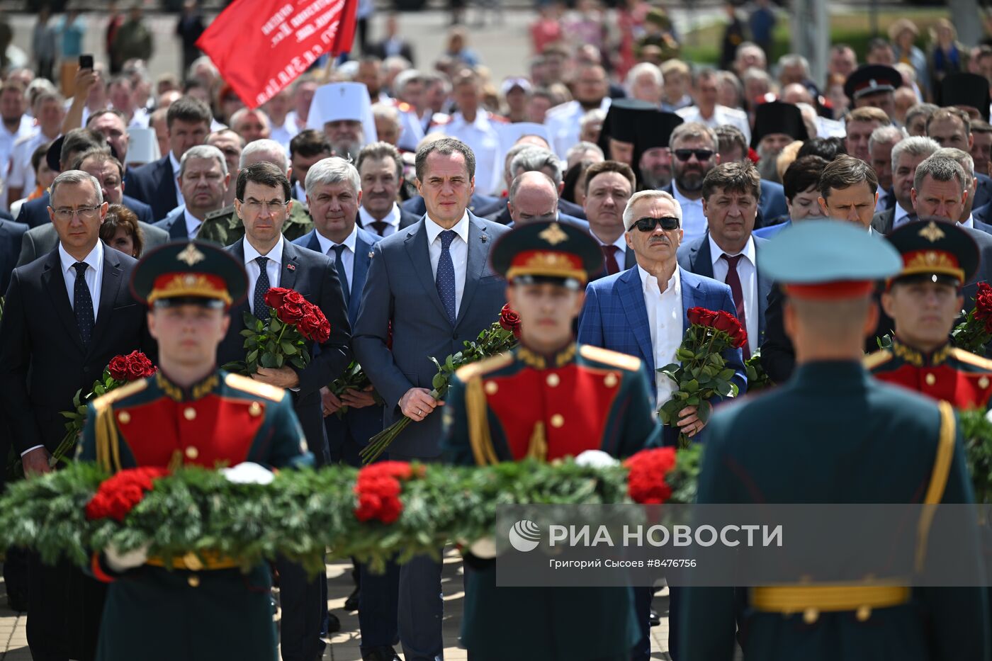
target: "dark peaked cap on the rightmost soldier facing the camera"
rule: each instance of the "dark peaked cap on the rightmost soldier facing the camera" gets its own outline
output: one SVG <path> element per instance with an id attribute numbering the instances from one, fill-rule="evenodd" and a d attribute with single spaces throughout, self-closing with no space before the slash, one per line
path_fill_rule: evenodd
<path id="1" fill-rule="evenodd" d="M 956 222 L 920 220 L 889 235 L 903 257 L 893 280 L 930 280 L 960 287 L 978 270 L 978 246 Z"/>

